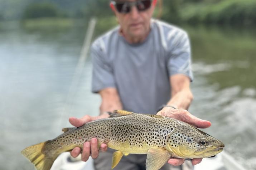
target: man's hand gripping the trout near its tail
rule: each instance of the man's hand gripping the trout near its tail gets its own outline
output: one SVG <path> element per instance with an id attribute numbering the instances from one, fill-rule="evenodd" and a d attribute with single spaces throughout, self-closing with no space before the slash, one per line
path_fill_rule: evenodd
<path id="1" fill-rule="evenodd" d="M 107 113 L 103 113 L 102 115 L 95 116 L 95 117 L 85 115 L 84 117 L 79 118 L 79 119 L 75 118 L 75 117 L 70 117 L 69 122 L 73 126 L 80 127 L 87 122 L 94 121 L 94 120 L 101 119 L 101 118 L 108 118 L 108 117 L 109 117 L 109 115 Z M 101 144 L 100 150 L 105 152 L 107 150 L 107 145 Z M 77 157 L 80 153 L 81 153 L 81 149 L 79 147 L 75 147 L 71 151 L 71 156 Z M 89 159 L 90 155 L 92 156 L 93 159 L 96 159 L 98 157 L 98 154 L 99 154 L 98 140 L 95 137 L 92 138 L 90 142 L 87 141 L 84 143 L 83 151 L 82 151 L 82 161 L 87 161 Z"/>

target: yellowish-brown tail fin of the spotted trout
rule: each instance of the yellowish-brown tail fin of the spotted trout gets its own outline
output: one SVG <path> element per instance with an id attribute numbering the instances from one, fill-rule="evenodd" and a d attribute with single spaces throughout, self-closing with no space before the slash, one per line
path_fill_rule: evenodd
<path id="1" fill-rule="evenodd" d="M 37 170 L 50 170 L 53 162 L 58 157 L 58 154 L 47 154 L 47 150 L 44 149 L 46 143 L 47 142 L 42 142 L 37 145 L 29 146 L 21 151 L 21 154 L 30 160 Z"/>

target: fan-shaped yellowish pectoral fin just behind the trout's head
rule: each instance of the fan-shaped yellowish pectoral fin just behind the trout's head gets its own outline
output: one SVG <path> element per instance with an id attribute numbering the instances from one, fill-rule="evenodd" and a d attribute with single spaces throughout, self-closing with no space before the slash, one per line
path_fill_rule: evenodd
<path id="1" fill-rule="evenodd" d="M 151 147 L 146 160 L 146 170 L 159 170 L 173 153 L 159 147 Z"/>

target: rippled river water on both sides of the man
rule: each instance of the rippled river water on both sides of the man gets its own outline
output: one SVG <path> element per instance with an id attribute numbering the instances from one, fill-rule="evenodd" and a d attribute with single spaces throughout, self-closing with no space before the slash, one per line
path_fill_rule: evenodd
<path id="1" fill-rule="evenodd" d="M 212 122 L 204 131 L 248 170 L 256 169 L 256 34 L 250 29 L 184 27 L 191 38 L 194 101 L 190 112 Z M 85 26 L 24 29 L 0 24 L 0 169 L 32 170 L 20 151 L 52 139 L 68 117 L 97 115 L 91 60 L 70 89 Z"/>

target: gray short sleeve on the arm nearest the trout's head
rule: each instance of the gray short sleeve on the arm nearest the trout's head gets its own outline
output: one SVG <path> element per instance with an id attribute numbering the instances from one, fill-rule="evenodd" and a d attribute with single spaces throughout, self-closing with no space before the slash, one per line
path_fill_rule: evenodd
<path id="1" fill-rule="evenodd" d="M 174 74 L 185 74 L 190 78 L 190 81 L 193 81 L 190 42 L 185 31 L 180 31 L 170 41 L 169 55 L 169 76 Z"/>

